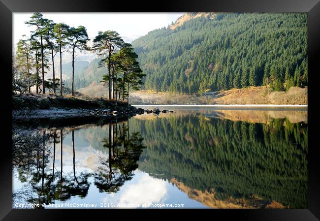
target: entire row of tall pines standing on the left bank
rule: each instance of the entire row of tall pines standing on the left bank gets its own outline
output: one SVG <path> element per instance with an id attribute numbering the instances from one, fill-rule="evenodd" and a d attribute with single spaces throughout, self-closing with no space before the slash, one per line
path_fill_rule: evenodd
<path id="1" fill-rule="evenodd" d="M 64 88 L 62 80 L 63 53 L 72 54 L 71 95 L 74 92 L 74 70 L 76 53 L 79 51 L 94 51 L 100 57 L 99 66 L 107 65 L 108 72 L 101 76 L 101 81 L 108 86 L 109 99 L 127 98 L 130 90 L 138 90 L 142 83 L 142 70 L 137 62 L 138 56 L 130 44 L 125 43 L 115 31 L 98 32 L 90 41 L 85 27 L 69 27 L 64 23 L 56 24 L 50 19 L 43 18 L 41 13 L 34 13 L 25 24 L 34 27 L 30 36 L 23 36 L 17 44 L 13 58 L 12 92 L 13 94 L 31 93 L 35 87 L 36 94 L 60 93 L 64 95 L 69 90 Z M 55 56 L 59 53 L 60 78 L 56 77 Z M 51 62 L 49 63 L 49 59 Z M 52 78 L 45 79 L 45 70 L 52 68 Z M 48 91 L 49 90 L 49 91 Z"/>

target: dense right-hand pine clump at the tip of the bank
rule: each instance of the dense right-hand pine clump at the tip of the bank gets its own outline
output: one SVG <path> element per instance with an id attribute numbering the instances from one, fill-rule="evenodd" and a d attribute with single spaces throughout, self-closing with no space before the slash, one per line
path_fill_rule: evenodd
<path id="1" fill-rule="evenodd" d="M 119 99 L 127 98 L 129 102 L 130 89 L 139 90 L 145 76 L 132 45 L 125 43 L 117 32 L 98 32 L 93 50 L 103 56 L 99 67 L 108 66 L 108 74 L 103 75 L 102 82 L 108 84 L 109 99 L 117 101 L 119 96 Z"/>

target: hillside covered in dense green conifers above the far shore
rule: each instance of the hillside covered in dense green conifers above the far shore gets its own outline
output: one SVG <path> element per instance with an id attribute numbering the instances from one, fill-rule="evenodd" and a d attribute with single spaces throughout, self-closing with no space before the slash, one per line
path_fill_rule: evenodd
<path id="1" fill-rule="evenodd" d="M 132 42 L 144 89 L 192 94 L 307 86 L 306 13 L 189 15 Z"/>

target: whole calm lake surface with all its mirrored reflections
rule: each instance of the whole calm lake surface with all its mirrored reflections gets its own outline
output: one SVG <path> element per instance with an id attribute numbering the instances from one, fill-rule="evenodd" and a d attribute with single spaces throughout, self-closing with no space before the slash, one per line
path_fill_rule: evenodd
<path id="1" fill-rule="evenodd" d="M 13 207 L 307 208 L 307 111 L 164 108 L 14 131 Z"/>

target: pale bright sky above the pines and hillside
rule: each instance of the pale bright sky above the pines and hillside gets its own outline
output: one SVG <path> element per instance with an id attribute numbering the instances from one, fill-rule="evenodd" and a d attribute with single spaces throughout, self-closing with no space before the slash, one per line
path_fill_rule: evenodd
<path id="1" fill-rule="evenodd" d="M 42 13 L 44 18 L 55 23 L 69 26 L 80 25 L 87 28 L 89 38 L 93 40 L 98 31 L 112 30 L 118 32 L 130 43 L 148 32 L 167 27 L 184 13 Z M 30 35 L 34 27 L 24 24 L 32 13 L 13 13 L 13 43 L 17 44 L 23 34 Z"/>

